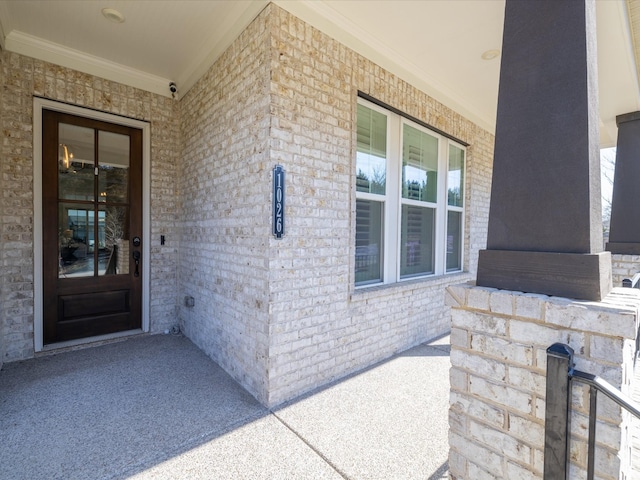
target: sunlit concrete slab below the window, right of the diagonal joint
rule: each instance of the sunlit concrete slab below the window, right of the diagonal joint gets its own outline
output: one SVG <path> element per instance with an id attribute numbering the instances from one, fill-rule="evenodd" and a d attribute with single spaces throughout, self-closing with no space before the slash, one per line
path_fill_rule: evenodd
<path id="1" fill-rule="evenodd" d="M 446 478 L 449 368 L 445 338 L 274 413 L 345 478 Z"/>

